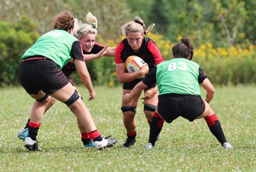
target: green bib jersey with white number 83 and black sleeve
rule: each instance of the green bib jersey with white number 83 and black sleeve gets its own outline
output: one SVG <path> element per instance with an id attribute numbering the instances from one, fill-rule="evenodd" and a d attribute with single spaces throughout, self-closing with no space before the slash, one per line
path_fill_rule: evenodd
<path id="1" fill-rule="evenodd" d="M 186 94 L 200 96 L 200 86 L 207 78 L 200 66 L 184 58 L 175 58 L 157 66 L 156 80 L 159 96 Z"/>

